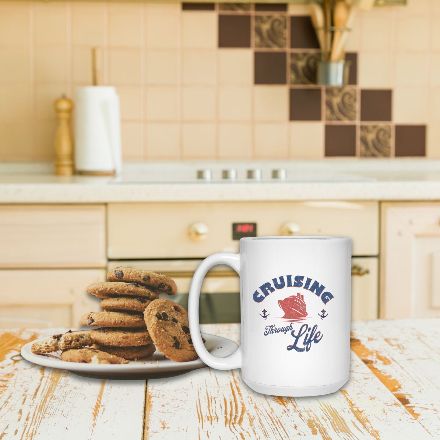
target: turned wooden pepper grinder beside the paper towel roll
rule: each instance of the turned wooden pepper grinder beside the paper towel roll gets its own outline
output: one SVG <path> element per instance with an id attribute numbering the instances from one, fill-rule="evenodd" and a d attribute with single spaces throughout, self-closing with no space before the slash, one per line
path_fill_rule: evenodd
<path id="1" fill-rule="evenodd" d="M 73 175 L 73 141 L 70 129 L 70 117 L 73 110 L 71 99 L 62 95 L 55 101 L 58 125 L 55 134 L 55 174 Z"/>

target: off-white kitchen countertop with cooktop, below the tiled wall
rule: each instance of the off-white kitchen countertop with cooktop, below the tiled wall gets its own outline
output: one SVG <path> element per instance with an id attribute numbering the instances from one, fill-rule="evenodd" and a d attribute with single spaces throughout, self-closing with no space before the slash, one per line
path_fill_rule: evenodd
<path id="1" fill-rule="evenodd" d="M 238 180 L 219 180 L 236 167 Z M 240 178 L 260 167 L 263 176 L 285 167 L 287 180 Z M 194 179 L 213 170 L 213 181 Z M 295 200 L 440 200 L 440 160 L 326 159 L 264 162 L 149 162 L 125 164 L 119 177 L 60 177 L 50 164 L 0 164 L 0 203 L 210 202 Z"/>

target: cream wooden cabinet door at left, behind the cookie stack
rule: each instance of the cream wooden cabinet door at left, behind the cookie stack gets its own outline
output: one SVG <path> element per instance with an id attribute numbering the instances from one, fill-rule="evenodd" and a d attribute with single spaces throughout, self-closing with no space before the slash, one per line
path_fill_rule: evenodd
<path id="1" fill-rule="evenodd" d="M 81 316 L 100 312 L 87 293 L 106 279 L 105 269 L 0 270 L 0 327 L 78 328 Z"/>

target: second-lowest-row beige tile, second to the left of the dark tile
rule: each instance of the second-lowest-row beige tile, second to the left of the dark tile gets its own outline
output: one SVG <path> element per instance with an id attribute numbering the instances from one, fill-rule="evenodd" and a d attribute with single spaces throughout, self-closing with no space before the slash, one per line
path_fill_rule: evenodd
<path id="1" fill-rule="evenodd" d="M 252 88 L 243 86 L 219 87 L 220 121 L 250 121 Z"/>

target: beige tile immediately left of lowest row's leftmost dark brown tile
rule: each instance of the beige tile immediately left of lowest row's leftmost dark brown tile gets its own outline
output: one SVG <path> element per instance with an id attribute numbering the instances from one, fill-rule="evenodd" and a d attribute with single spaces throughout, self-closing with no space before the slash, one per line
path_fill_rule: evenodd
<path id="1" fill-rule="evenodd" d="M 290 157 L 322 159 L 324 157 L 324 124 L 290 122 Z"/>

